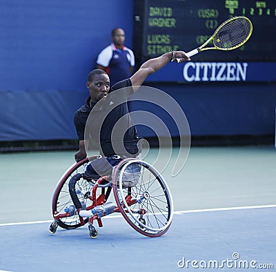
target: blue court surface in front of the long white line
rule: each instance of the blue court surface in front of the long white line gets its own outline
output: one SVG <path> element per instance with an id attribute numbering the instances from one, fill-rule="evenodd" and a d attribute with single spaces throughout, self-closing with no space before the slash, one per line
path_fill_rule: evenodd
<path id="1" fill-rule="evenodd" d="M 48 232 L 50 223 L 1 226 L 6 271 L 209 271 L 276 268 L 276 207 L 177 213 L 164 236 L 137 233 L 123 217 Z M 194 262 L 193 262 L 194 261 Z M 268 269 L 264 269 L 267 271 Z M 270 270 L 270 269 L 269 269 Z M 258 269 L 259 271 L 259 269 Z"/>

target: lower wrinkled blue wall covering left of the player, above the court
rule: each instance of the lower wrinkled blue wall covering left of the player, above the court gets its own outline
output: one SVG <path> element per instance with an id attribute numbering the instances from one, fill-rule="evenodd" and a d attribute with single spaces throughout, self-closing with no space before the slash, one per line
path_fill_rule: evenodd
<path id="1" fill-rule="evenodd" d="M 1 141 L 76 139 L 73 118 L 84 95 L 70 90 L 0 92 Z"/>

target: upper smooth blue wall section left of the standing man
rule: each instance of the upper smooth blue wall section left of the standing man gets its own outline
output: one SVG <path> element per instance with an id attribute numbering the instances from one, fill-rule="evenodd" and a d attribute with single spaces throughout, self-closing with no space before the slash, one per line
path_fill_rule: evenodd
<path id="1" fill-rule="evenodd" d="M 85 90 L 112 28 L 132 46 L 132 1 L 120 2 L 0 0 L 0 91 Z"/>

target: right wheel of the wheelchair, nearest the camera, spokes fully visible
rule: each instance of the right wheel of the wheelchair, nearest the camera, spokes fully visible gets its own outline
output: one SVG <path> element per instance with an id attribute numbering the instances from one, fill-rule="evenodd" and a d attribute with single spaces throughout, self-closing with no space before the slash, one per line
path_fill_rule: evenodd
<path id="1" fill-rule="evenodd" d="M 168 231 L 172 196 L 155 168 L 138 159 L 124 160 L 115 168 L 112 182 L 119 211 L 133 229 L 148 237 Z"/>

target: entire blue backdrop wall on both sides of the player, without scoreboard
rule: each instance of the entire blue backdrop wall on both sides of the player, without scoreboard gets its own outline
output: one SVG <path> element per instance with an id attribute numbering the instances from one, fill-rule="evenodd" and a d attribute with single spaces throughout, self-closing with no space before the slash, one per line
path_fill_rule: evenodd
<path id="1" fill-rule="evenodd" d="M 88 72 L 112 28 L 124 28 L 132 47 L 132 17 L 133 0 L 0 0 L 0 141 L 77 139 Z M 275 83 L 159 79 L 148 84 L 178 101 L 192 135 L 275 133 Z"/>

